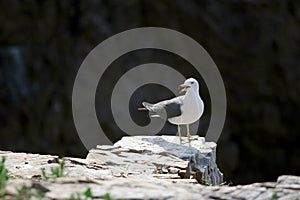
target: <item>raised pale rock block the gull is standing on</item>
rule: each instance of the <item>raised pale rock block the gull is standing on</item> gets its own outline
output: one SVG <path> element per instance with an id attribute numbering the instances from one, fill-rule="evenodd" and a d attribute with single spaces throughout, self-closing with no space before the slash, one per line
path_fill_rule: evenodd
<path id="1" fill-rule="evenodd" d="M 179 144 L 176 136 L 123 137 L 114 148 L 92 149 L 87 160 L 90 165 L 114 166 L 126 174 L 168 173 L 211 185 L 223 182 L 216 164 L 216 144 L 198 136 L 184 145 Z"/>

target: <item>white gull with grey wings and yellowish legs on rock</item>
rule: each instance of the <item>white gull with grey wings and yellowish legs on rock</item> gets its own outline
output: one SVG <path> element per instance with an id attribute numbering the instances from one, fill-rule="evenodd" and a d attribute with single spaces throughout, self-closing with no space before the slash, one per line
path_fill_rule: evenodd
<path id="1" fill-rule="evenodd" d="M 160 117 L 177 125 L 181 143 L 180 125 L 186 125 L 187 137 L 190 141 L 189 125 L 200 119 L 204 111 L 204 103 L 199 95 L 199 83 L 196 79 L 185 80 L 179 89 L 180 94 L 183 92 L 185 94 L 155 104 L 143 102 L 144 108 L 139 108 L 139 110 L 148 110 L 150 117 Z"/>

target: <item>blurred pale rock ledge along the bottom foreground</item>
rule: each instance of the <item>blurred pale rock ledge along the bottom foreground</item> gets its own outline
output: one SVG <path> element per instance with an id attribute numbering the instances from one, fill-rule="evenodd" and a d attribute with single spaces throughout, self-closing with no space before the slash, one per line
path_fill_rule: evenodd
<path id="1" fill-rule="evenodd" d="M 72 195 L 83 194 L 88 188 L 91 189 L 95 199 L 102 199 L 107 193 L 114 199 L 296 200 L 300 198 L 300 190 L 277 187 L 279 183 L 272 183 L 275 187 L 270 188 L 265 187 L 265 183 L 245 186 L 203 186 L 176 180 L 191 179 L 169 181 L 151 176 L 119 177 L 108 180 L 70 177 L 39 182 L 19 179 L 9 181 L 7 192 L 10 196 L 16 196 L 18 189 L 25 186 L 30 191 L 43 192 L 44 199 L 70 199 Z M 299 184 L 293 182 L 295 179 L 290 176 L 282 176 L 281 180 L 293 185 Z"/>

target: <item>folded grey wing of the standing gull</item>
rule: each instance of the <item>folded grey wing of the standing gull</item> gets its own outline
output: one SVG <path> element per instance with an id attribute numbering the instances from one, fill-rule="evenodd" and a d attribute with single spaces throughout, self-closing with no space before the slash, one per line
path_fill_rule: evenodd
<path id="1" fill-rule="evenodd" d="M 143 102 L 143 105 L 150 111 L 151 117 L 157 116 L 167 120 L 182 114 L 181 105 L 183 102 L 183 97 L 184 96 L 175 97 L 173 99 L 162 101 L 156 104 Z"/>

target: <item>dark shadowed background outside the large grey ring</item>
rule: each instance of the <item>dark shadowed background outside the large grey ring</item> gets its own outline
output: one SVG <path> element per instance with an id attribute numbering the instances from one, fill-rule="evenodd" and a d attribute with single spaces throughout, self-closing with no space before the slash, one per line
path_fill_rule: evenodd
<path id="1" fill-rule="evenodd" d="M 300 175 L 300 1 L 2 0 L 0 9 L 1 150 L 84 157 L 71 111 L 81 62 L 116 33 L 158 26 L 195 39 L 219 67 L 225 180 Z"/>

